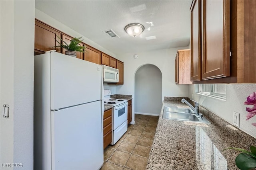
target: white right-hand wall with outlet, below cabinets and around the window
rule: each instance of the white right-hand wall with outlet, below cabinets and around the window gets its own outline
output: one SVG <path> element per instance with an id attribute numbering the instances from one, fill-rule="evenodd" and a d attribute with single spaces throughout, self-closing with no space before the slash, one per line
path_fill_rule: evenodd
<path id="1" fill-rule="evenodd" d="M 227 84 L 226 85 L 226 101 L 216 98 L 202 96 L 195 93 L 195 85 L 189 85 L 189 98 L 198 101 L 200 105 L 212 111 L 224 120 L 233 124 L 233 111 L 240 113 L 240 129 L 256 138 L 256 127 L 251 123 L 256 122 L 256 117 L 252 117 L 246 121 L 246 107 L 244 105 L 246 97 L 252 92 L 256 92 L 256 84 Z"/>

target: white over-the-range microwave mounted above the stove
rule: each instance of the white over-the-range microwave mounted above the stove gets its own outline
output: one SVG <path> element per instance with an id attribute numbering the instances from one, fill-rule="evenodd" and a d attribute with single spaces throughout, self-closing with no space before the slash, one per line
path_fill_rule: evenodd
<path id="1" fill-rule="evenodd" d="M 118 82 L 119 70 L 110 66 L 101 65 L 103 72 L 103 82 Z"/>

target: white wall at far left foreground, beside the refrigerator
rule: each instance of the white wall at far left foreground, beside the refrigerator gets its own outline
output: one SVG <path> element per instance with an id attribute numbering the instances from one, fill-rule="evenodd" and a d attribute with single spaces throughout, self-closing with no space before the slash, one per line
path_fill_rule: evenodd
<path id="1" fill-rule="evenodd" d="M 0 1 L 0 163 L 33 169 L 35 1 Z M 3 104 L 10 105 L 9 119 Z M 4 168 L 1 169 L 13 169 Z"/>

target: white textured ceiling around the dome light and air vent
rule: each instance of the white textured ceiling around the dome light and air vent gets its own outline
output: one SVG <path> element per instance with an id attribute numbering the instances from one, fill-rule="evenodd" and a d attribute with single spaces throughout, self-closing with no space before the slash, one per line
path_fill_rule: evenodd
<path id="1" fill-rule="evenodd" d="M 192 0 L 36 0 L 36 9 L 115 54 L 188 46 Z M 138 22 L 139 37 L 124 31 Z M 112 29 L 120 38 L 102 31 Z M 156 39 L 146 40 L 146 37 Z"/>

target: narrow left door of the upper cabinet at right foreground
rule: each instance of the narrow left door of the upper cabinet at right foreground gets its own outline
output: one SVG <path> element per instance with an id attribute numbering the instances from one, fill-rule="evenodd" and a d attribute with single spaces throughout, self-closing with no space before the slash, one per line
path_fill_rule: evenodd
<path id="1" fill-rule="evenodd" d="M 201 1 L 194 0 L 191 8 L 191 81 L 201 80 Z"/>

